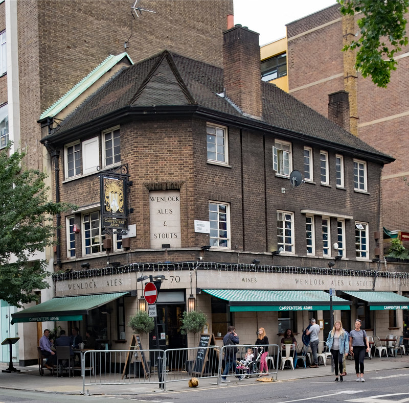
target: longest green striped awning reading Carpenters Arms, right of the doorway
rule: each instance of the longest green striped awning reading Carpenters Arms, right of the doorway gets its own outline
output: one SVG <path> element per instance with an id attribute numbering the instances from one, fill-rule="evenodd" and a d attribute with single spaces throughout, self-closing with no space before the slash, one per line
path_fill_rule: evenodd
<path id="1" fill-rule="evenodd" d="M 202 290 L 229 301 L 231 312 L 329 311 L 330 296 L 324 291 L 299 290 Z M 332 297 L 334 311 L 349 310 L 350 301 Z"/>

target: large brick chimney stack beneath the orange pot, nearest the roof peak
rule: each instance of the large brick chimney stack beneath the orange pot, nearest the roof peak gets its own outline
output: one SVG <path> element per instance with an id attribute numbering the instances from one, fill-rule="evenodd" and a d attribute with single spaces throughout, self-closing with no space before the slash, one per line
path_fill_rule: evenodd
<path id="1" fill-rule="evenodd" d="M 261 119 L 259 34 L 237 24 L 223 33 L 224 93 L 241 111 Z"/>

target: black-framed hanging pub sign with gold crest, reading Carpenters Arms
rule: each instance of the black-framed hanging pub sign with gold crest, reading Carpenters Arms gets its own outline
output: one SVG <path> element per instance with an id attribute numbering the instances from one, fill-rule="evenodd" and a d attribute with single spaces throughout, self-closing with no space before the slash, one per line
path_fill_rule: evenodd
<path id="1" fill-rule="evenodd" d="M 116 170 L 100 171 L 101 226 L 128 228 L 128 166 Z"/>

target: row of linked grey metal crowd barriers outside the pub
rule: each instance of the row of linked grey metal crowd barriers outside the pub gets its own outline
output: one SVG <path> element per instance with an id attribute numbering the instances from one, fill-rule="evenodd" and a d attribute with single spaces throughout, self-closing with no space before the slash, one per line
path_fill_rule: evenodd
<path id="1" fill-rule="evenodd" d="M 244 359 L 245 352 L 252 345 L 237 345 L 237 362 L 228 377 L 237 376 L 236 366 Z M 81 352 L 82 392 L 90 385 L 158 384 L 166 390 L 169 382 L 189 381 L 196 378 L 215 378 L 221 383 L 224 368 L 224 352 L 229 346 L 192 347 L 168 350 L 88 350 Z M 275 376 L 279 367 L 280 348 L 268 345 L 268 373 Z M 255 357 L 255 359 L 257 356 Z M 263 374 L 259 360 L 248 373 L 247 378 Z"/>

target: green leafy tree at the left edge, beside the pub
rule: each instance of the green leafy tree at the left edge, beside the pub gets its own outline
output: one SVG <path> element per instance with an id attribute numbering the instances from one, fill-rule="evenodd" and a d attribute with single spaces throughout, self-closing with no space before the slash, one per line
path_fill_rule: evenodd
<path id="1" fill-rule="evenodd" d="M 49 201 L 47 175 L 24 169 L 23 158 L 10 146 L 0 152 L 0 298 L 16 306 L 49 287 L 47 261 L 30 257 L 53 244 L 53 216 L 73 207 Z"/>

